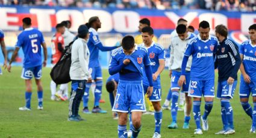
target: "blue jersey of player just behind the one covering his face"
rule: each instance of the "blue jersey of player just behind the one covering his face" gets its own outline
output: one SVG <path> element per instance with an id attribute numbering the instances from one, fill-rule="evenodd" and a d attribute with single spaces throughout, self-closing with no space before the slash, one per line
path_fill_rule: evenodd
<path id="1" fill-rule="evenodd" d="M 145 44 L 141 44 L 140 46 L 145 46 Z M 165 60 L 164 48 L 157 43 L 151 44 L 150 47 L 146 47 L 148 50 L 149 59 L 151 61 L 151 69 L 152 73 L 155 73 L 159 67 L 159 60 Z M 160 75 L 157 77 L 157 80 L 153 82 L 154 88 L 161 88 Z M 146 77 L 145 68 L 143 71 L 143 85 L 149 86 L 148 77 Z"/>

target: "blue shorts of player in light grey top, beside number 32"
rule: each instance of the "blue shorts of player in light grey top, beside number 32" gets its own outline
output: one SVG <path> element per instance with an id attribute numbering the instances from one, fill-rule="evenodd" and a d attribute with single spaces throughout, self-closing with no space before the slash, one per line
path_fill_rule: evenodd
<path id="1" fill-rule="evenodd" d="M 170 89 L 181 89 L 181 87 L 178 85 L 178 80 L 180 79 L 181 72 L 178 71 L 172 71 L 172 77 L 170 78 Z M 186 77 L 186 84 L 183 84 L 183 91 L 182 92 L 188 92 L 189 91 L 189 82 L 190 82 L 190 73 L 185 74 Z"/>

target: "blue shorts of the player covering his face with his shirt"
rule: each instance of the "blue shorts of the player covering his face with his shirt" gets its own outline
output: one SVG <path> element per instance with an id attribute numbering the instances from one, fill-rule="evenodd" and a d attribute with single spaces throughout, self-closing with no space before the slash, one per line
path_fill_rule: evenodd
<path id="1" fill-rule="evenodd" d="M 146 112 L 142 80 L 119 80 L 112 111 Z"/>

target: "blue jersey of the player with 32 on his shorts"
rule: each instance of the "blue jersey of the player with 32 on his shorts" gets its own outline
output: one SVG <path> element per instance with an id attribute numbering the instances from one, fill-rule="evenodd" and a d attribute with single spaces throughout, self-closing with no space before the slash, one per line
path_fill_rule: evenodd
<path id="1" fill-rule="evenodd" d="M 190 71 L 193 80 L 214 79 L 214 57 L 218 41 L 216 37 L 209 36 L 208 40 L 202 40 L 198 35 L 187 44 L 185 56 L 192 55 L 192 66 Z"/>

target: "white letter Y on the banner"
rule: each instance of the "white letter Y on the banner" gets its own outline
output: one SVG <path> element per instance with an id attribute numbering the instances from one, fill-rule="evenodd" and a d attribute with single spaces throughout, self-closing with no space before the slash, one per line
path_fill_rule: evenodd
<path id="1" fill-rule="evenodd" d="M 166 14 L 166 16 L 168 17 L 168 19 L 170 19 L 173 23 L 178 22 L 178 20 L 181 18 L 180 16 L 178 16 L 177 14 L 173 13 L 173 12 L 164 12 L 164 14 Z M 190 23 L 193 22 L 193 20 L 198 16 L 198 12 L 189 12 L 186 15 L 184 15 L 182 18 L 187 20 L 187 25 L 190 25 Z"/>

